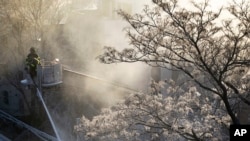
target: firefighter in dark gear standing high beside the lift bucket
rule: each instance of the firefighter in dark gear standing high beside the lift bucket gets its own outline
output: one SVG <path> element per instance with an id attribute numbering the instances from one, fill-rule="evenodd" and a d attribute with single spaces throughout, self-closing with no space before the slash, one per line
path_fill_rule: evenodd
<path id="1" fill-rule="evenodd" d="M 37 65 L 39 64 L 40 64 L 40 58 L 37 55 L 35 48 L 31 47 L 30 53 L 26 58 L 26 66 L 31 78 L 34 78 L 36 76 L 36 68 Z"/>

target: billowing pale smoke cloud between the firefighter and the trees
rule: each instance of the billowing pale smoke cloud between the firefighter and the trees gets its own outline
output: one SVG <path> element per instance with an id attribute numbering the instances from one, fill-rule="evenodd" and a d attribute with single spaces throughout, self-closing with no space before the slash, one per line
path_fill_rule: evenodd
<path id="1" fill-rule="evenodd" d="M 125 3 L 131 6 L 128 10 L 133 13 L 134 2 Z M 138 1 L 137 5 L 140 4 Z M 63 140 L 74 138 L 71 130 L 76 118 L 84 115 L 91 119 L 101 108 L 114 105 L 129 95 L 131 89 L 147 90 L 150 79 L 147 65 L 107 65 L 96 59 L 104 46 L 114 46 L 119 50 L 131 47 L 123 31 L 128 24 L 115 15 L 115 10 L 112 7 L 102 7 L 99 12 L 73 10 L 64 24 L 47 27 L 46 34 L 37 43 L 42 59 L 59 58 L 64 68 L 80 73 L 64 71 L 62 87 L 57 91 L 47 89 L 44 93 Z"/>

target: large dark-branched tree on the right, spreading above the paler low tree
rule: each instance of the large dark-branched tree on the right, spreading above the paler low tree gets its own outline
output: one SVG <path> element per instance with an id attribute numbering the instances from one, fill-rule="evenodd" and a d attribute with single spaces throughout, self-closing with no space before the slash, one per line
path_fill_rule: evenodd
<path id="1" fill-rule="evenodd" d="M 178 8 L 176 0 L 153 2 L 158 7 L 145 8 L 144 15 L 131 16 L 120 11 L 135 31 L 127 30 L 134 48 L 119 52 L 106 47 L 100 60 L 105 63 L 141 61 L 180 70 L 201 88 L 218 95 L 232 122 L 239 123 L 230 101 L 250 104 L 249 87 L 241 78 L 250 64 L 249 3 L 234 2 L 227 8 L 234 18 L 219 20 L 222 9 L 217 13 L 207 11 L 208 1 L 193 3 L 194 11 Z M 221 25 L 216 24 L 218 20 Z"/>

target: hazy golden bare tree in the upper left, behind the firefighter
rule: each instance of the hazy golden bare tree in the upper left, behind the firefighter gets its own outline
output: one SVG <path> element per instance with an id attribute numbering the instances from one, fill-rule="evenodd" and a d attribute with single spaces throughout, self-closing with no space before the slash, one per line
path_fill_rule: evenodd
<path id="1" fill-rule="evenodd" d="M 25 102 L 20 80 L 27 52 L 31 46 L 40 47 L 38 39 L 42 39 L 41 46 L 45 46 L 48 38 L 44 34 L 50 30 L 48 27 L 58 25 L 67 15 L 67 8 L 67 1 L 61 0 L 0 0 L 0 60 L 3 61 L 0 63 L 5 63 L 5 72 L 1 75 L 23 94 Z"/>

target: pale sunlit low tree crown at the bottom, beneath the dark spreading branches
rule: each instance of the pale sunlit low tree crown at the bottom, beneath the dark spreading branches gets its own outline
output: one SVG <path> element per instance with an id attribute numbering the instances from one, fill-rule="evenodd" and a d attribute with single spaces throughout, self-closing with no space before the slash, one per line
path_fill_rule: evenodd
<path id="1" fill-rule="evenodd" d="M 75 130 L 86 140 L 229 139 L 230 117 L 218 97 L 204 98 L 190 84 L 154 83 L 157 88 L 166 84 L 169 95 L 153 95 L 154 89 L 151 95 L 131 94 L 92 120 L 83 116 Z"/>

